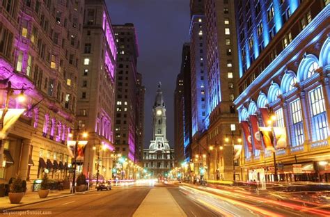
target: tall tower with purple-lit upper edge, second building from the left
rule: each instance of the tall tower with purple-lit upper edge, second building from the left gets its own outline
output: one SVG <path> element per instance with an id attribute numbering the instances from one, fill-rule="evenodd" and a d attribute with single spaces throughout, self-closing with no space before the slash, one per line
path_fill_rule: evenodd
<path id="1" fill-rule="evenodd" d="M 86 0 L 81 40 L 81 70 L 79 72 L 77 121 L 86 129 L 83 171 L 93 177 L 98 169 L 111 179 L 113 118 L 117 48 L 111 19 L 104 0 Z M 104 147 L 107 147 L 104 149 Z M 100 155 L 102 161 L 97 163 Z M 95 177 L 94 177 L 95 178 Z"/>

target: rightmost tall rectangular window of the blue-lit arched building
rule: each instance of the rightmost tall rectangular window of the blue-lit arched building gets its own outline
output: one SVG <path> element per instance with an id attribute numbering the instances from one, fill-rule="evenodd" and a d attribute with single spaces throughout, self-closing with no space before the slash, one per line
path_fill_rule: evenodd
<path id="1" fill-rule="evenodd" d="M 309 99 L 313 120 L 313 140 L 323 140 L 328 137 L 329 132 L 322 86 L 311 90 L 309 92 Z"/>

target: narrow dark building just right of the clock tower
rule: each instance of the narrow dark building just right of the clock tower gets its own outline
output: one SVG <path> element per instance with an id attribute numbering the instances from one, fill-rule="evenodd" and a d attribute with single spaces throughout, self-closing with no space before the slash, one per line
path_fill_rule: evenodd
<path id="1" fill-rule="evenodd" d="M 175 166 L 184 161 L 184 81 L 183 73 L 178 74 L 174 91 L 174 154 Z"/>

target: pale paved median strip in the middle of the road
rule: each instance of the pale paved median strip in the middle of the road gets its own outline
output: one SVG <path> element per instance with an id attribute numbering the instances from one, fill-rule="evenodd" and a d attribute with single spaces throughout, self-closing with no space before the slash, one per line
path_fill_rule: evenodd
<path id="1" fill-rule="evenodd" d="M 166 188 L 152 188 L 133 216 L 183 217 L 186 214 Z"/>

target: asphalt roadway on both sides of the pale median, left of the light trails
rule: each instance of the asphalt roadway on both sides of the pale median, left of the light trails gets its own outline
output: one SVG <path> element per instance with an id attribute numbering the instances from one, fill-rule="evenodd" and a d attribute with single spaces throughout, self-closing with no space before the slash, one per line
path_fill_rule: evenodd
<path id="1" fill-rule="evenodd" d="M 132 216 L 143 199 L 146 198 L 150 189 L 151 187 L 129 187 L 113 188 L 111 191 L 93 191 L 8 209 L 6 214 L 10 214 L 10 216 L 56 217 Z M 219 216 L 219 214 L 214 214 L 209 209 L 186 197 L 178 187 L 167 187 L 167 189 L 187 216 Z M 148 214 L 146 214 L 146 217 L 148 217 Z"/>

